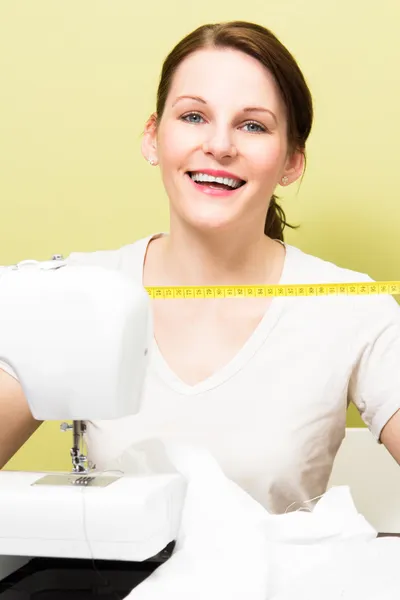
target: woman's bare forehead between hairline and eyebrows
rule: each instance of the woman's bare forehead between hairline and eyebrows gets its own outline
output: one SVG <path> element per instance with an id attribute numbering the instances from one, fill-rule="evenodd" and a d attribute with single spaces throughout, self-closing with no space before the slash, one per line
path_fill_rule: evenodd
<path id="1" fill-rule="evenodd" d="M 281 98 L 272 74 L 255 58 L 231 48 L 209 48 L 189 55 L 175 72 L 169 101 L 202 96 L 210 104 L 263 104 L 279 111 Z"/>

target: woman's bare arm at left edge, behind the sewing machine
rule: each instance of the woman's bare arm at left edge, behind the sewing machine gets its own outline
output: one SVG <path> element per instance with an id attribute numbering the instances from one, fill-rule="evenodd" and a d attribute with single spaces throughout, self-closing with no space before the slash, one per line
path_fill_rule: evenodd
<path id="1" fill-rule="evenodd" d="M 0 369 L 0 469 L 40 424 L 33 418 L 18 381 Z"/>

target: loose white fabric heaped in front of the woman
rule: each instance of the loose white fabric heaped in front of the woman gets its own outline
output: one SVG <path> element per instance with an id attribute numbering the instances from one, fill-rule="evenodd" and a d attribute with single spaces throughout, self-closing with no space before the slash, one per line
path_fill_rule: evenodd
<path id="1" fill-rule="evenodd" d="M 347 487 L 330 489 L 312 511 L 271 515 L 205 450 L 167 453 L 188 481 L 177 545 L 127 598 L 398 599 L 400 539 L 376 539 Z"/>

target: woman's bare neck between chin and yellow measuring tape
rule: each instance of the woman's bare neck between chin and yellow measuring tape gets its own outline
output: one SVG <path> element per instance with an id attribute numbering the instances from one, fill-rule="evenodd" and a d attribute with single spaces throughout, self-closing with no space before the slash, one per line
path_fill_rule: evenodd
<path id="1" fill-rule="evenodd" d="M 262 229 L 203 233 L 174 226 L 162 254 L 170 285 L 254 285 L 273 276 L 284 250 Z"/>

